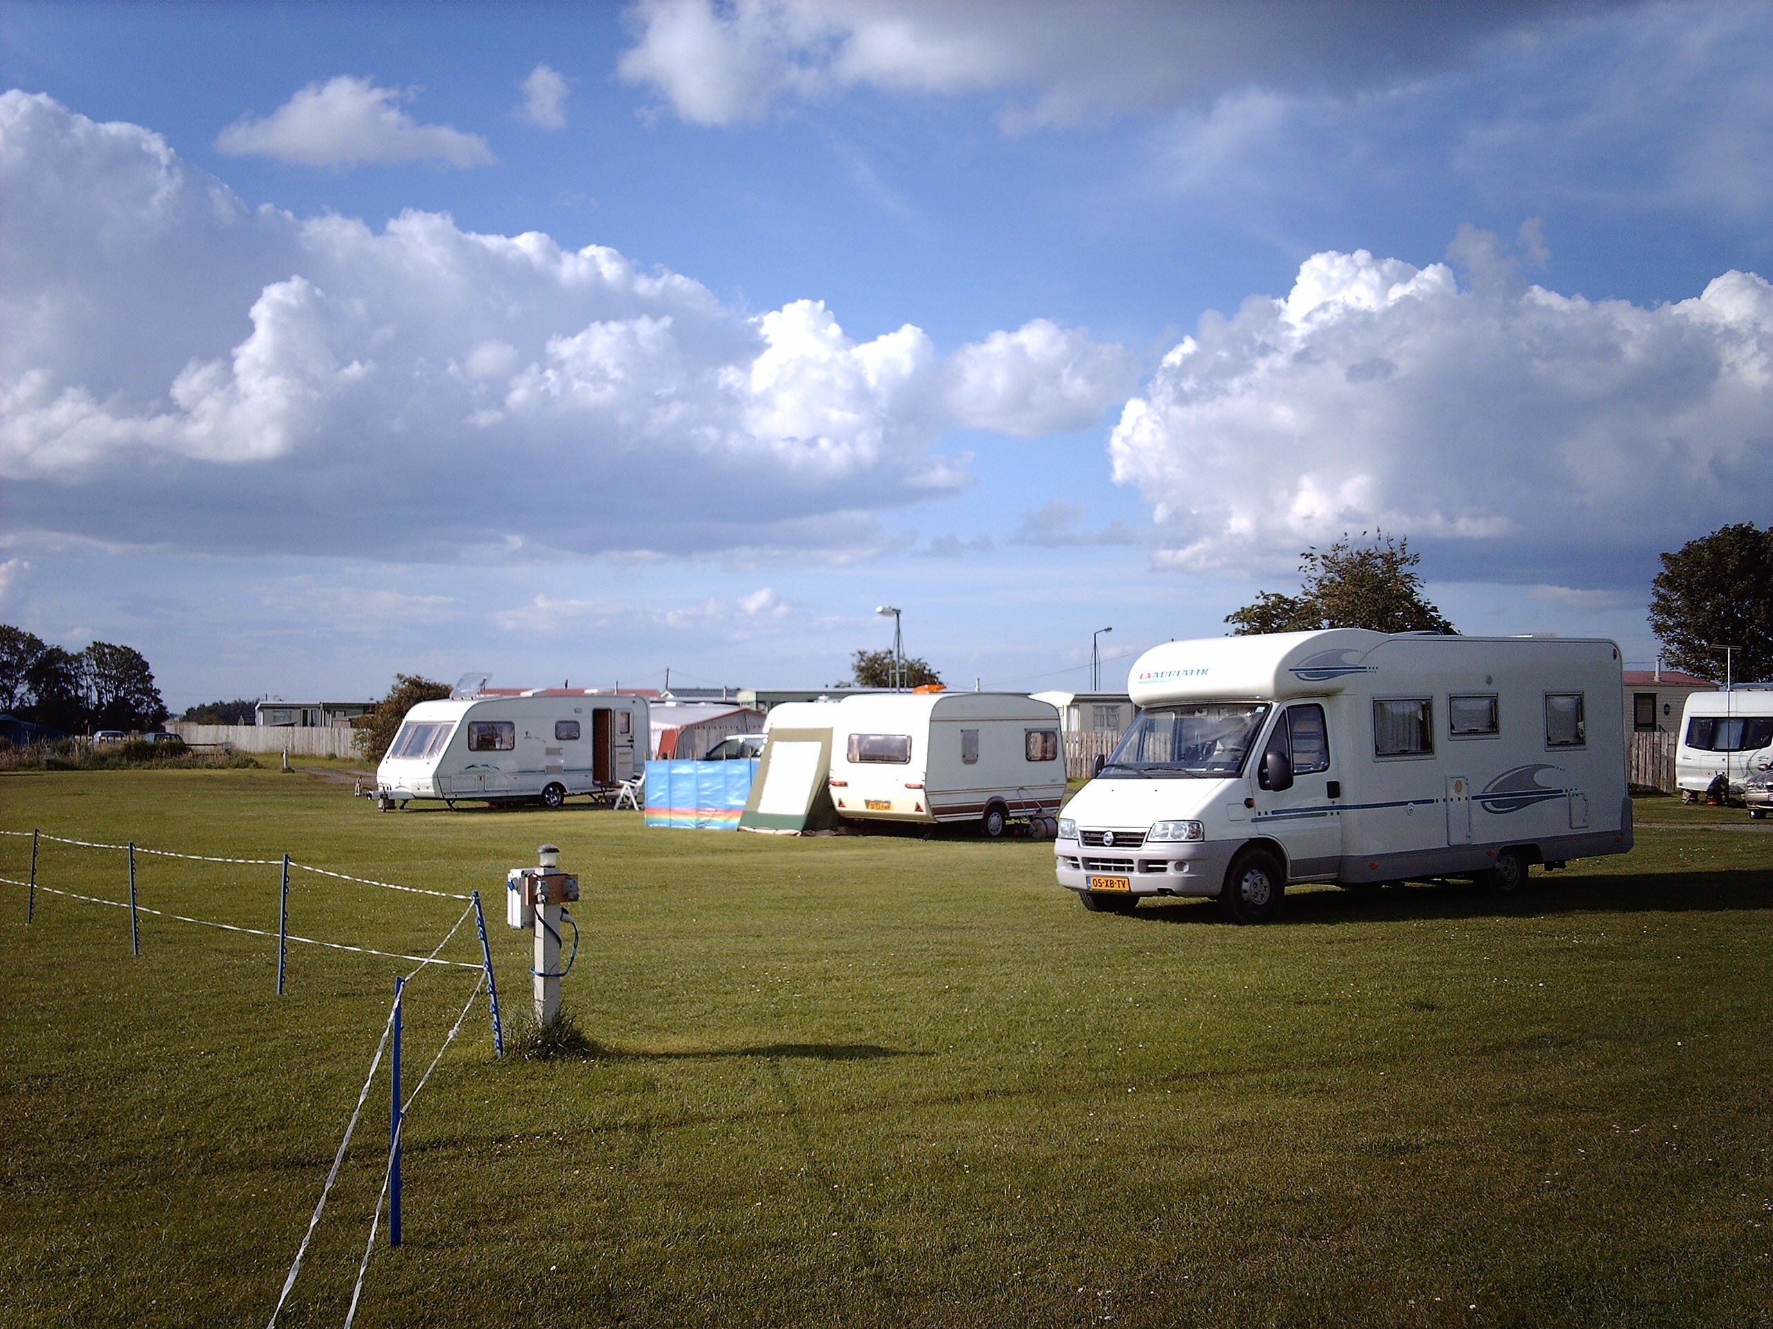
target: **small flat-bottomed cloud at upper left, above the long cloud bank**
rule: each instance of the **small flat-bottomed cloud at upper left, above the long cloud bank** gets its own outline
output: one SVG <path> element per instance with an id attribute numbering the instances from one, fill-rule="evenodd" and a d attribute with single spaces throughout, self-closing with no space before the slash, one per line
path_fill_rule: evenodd
<path id="1" fill-rule="evenodd" d="M 493 151 L 480 135 L 413 120 L 399 106 L 413 96 L 411 90 L 376 87 L 367 78 L 339 74 L 324 83 L 309 83 L 264 119 L 236 120 L 216 136 L 216 147 L 230 156 L 271 158 L 301 167 L 392 161 L 482 167 L 493 159 Z M 555 110 L 558 113 L 558 106 Z"/>

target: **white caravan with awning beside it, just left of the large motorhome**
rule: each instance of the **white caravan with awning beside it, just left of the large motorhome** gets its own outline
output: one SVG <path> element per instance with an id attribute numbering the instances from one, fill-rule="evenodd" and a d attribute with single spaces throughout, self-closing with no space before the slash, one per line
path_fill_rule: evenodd
<path id="1" fill-rule="evenodd" d="M 768 728 L 830 728 L 832 804 L 853 820 L 977 822 L 996 838 L 1066 796 L 1058 711 L 1019 693 L 865 693 L 778 705 Z"/>

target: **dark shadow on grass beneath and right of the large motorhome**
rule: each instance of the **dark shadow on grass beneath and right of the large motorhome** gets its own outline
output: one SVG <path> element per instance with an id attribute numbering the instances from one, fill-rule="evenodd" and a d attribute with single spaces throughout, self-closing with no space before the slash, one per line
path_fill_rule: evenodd
<path id="1" fill-rule="evenodd" d="M 1280 925 L 1732 909 L 1773 909 L 1773 870 L 1534 875 L 1527 891 L 1512 900 L 1486 895 L 1479 886 L 1466 882 L 1410 882 L 1378 893 L 1296 888 L 1287 891 Z M 1147 923 L 1225 923 L 1218 900 L 1145 902 L 1122 918 Z"/>

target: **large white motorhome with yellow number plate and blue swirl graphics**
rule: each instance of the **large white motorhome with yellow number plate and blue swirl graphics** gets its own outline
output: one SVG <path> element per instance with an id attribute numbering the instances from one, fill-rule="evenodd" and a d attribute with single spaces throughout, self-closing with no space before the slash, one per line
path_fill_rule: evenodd
<path id="1" fill-rule="evenodd" d="M 1085 907 L 1216 897 L 1275 918 L 1289 882 L 1472 877 L 1631 849 L 1619 647 L 1365 629 L 1170 641 L 1058 822 Z"/>

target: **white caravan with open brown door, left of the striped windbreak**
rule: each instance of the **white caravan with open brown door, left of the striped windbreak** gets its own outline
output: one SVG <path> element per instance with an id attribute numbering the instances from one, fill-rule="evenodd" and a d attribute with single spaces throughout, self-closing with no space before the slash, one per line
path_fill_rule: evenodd
<path id="1" fill-rule="evenodd" d="M 541 799 L 558 808 L 573 794 L 603 796 L 633 778 L 645 735 L 644 696 L 550 688 L 420 702 L 376 769 L 376 799 L 383 810 L 410 799 Z"/>

